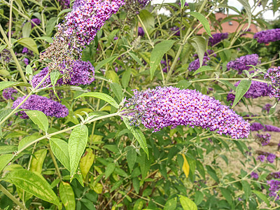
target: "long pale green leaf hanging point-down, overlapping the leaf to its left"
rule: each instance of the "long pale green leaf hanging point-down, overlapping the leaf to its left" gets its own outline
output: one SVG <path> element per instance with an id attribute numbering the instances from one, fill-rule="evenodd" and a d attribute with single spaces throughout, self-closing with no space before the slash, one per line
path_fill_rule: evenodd
<path id="1" fill-rule="evenodd" d="M 87 145 L 88 130 L 85 125 L 78 125 L 71 132 L 68 141 L 68 151 L 70 157 L 70 176 L 73 179 L 74 174 L 78 168 L 80 157 L 82 157 Z"/>

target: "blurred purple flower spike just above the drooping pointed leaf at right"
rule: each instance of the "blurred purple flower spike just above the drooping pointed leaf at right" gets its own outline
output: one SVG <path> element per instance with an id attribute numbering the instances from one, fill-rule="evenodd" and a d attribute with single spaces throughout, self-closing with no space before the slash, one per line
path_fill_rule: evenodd
<path id="1" fill-rule="evenodd" d="M 227 68 L 228 70 L 235 69 L 238 71 L 238 73 L 242 73 L 242 71 L 251 68 L 251 66 L 248 65 L 256 66 L 257 64 L 260 64 L 260 62 L 258 61 L 258 55 L 252 54 L 252 55 L 241 56 L 235 60 L 228 62 Z"/>

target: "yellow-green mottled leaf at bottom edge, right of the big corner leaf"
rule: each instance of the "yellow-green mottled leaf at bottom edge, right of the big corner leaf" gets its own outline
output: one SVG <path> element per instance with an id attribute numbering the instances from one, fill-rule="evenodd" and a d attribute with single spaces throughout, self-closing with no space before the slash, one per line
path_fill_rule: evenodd
<path id="1" fill-rule="evenodd" d="M 60 183 L 59 195 L 66 210 L 76 209 L 75 195 L 69 183 L 64 181 Z"/>

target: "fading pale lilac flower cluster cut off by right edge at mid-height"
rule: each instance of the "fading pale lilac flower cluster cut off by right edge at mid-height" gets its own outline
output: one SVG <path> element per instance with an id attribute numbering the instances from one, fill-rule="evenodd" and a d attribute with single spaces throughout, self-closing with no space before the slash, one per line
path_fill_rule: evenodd
<path id="1" fill-rule="evenodd" d="M 272 90 L 269 93 L 269 97 L 280 98 L 280 66 L 276 68 L 270 68 L 265 73 L 264 78 L 268 80 L 272 85 Z"/>

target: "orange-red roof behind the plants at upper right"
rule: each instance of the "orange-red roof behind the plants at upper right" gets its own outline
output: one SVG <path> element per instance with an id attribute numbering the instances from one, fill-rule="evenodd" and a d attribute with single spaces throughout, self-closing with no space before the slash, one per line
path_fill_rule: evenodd
<path id="1" fill-rule="evenodd" d="M 218 27 L 218 23 L 217 22 L 210 22 L 210 28 L 211 28 L 211 34 L 216 34 L 216 33 L 234 33 L 235 31 L 237 31 L 237 28 L 239 27 L 239 22 L 237 22 L 239 20 L 239 17 L 237 17 L 236 15 L 225 15 L 223 13 L 215 13 L 216 16 L 216 20 L 218 20 L 218 22 L 223 21 L 225 18 L 228 18 L 230 16 L 232 16 L 232 18 L 229 18 L 228 21 L 223 22 L 221 24 L 221 29 L 220 27 Z M 214 29 L 214 25 L 216 25 L 219 29 Z M 245 30 L 248 27 L 248 23 L 246 23 L 243 27 L 243 29 Z M 251 29 L 251 32 L 253 34 L 255 34 L 256 32 L 258 32 L 258 28 L 256 25 L 254 25 L 253 23 L 251 23 L 249 29 Z M 198 31 L 197 34 L 203 34 L 205 32 L 204 28 L 201 27 Z M 253 34 L 246 34 L 245 37 L 253 37 Z"/>

